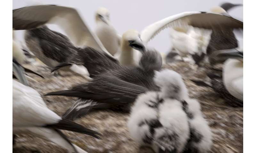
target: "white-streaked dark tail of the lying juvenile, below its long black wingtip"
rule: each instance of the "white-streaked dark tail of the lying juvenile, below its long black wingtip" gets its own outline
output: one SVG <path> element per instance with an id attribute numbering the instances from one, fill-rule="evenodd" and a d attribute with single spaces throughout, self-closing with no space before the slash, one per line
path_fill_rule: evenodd
<path id="1" fill-rule="evenodd" d="M 108 109 L 111 104 L 97 103 L 93 100 L 78 99 L 76 103 L 69 108 L 63 115 L 62 118 L 67 120 L 75 120 L 88 114 L 93 109 Z"/>

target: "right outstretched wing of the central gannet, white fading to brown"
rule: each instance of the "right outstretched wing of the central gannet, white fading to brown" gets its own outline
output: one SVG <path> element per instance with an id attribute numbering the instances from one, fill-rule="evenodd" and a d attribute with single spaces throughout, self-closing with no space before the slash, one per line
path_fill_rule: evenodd
<path id="1" fill-rule="evenodd" d="M 210 12 L 183 12 L 157 21 L 140 33 L 144 43 L 171 26 L 192 25 L 204 29 L 243 28 L 243 22 L 225 15 Z"/>

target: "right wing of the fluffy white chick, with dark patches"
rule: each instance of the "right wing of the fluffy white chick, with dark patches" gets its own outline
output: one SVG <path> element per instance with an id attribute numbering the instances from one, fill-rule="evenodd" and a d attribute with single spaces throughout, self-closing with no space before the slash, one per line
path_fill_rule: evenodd
<path id="1" fill-rule="evenodd" d="M 190 138 L 184 153 L 206 153 L 212 146 L 212 132 L 208 122 L 204 119 L 201 107 L 196 99 L 186 98 L 183 109 L 188 116 Z"/>

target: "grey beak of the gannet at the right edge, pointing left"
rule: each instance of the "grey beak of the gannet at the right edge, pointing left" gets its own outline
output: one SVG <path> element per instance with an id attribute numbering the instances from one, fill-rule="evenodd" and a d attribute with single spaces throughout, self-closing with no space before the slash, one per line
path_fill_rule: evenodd
<path id="1" fill-rule="evenodd" d="M 225 50 L 220 50 L 220 53 L 217 55 L 219 58 L 233 58 L 233 59 L 238 59 L 241 60 L 244 58 L 244 53 L 243 51 L 238 51 L 236 49 L 225 49 Z"/>

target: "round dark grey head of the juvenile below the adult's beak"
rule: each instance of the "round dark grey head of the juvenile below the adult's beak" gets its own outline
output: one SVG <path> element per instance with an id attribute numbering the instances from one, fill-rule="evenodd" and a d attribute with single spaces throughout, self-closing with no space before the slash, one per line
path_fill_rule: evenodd
<path id="1" fill-rule="evenodd" d="M 146 71 L 148 70 L 160 70 L 162 66 L 162 56 L 156 51 L 156 49 L 151 48 L 145 51 L 141 58 L 139 65 Z"/>

